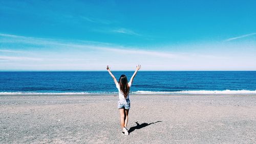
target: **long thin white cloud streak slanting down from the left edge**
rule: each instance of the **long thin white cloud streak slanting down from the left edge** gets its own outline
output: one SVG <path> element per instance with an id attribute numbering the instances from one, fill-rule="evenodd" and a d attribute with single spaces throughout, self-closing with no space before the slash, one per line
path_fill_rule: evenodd
<path id="1" fill-rule="evenodd" d="M 164 52 L 157 52 L 157 51 L 146 51 L 146 50 L 139 50 L 139 48 L 130 48 L 130 47 L 123 47 L 121 45 L 114 45 L 110 43 L 101 43 L 101 42 L 89 42 L 89 41 L 79 41 L 79 42 L 72 42 L 72 41 L 63 41 L 58 39 L 46 39 L 46 38 L 35 38 L 35 37 L 25 37 L 25 36 L 17 36 L 17 35 L 10 35 L 10 34 L 2 34 L 2 37 L 9 37 L 9 39 L 4 39 L 1 42 L 21 42 L 25 44 L 32 44 L 32 45 L 41 45 L 44 47 L 69 47 L 69 49 L 91 49 L 91 50 L 99 50 L 99 51 L 108 51 L 108 52 L 115 52 L 115 53 L 126 53 L 126 54 L 139 54 L 145 56 L 152 56 L 152 57 L 162 57 L 162 58 L 185 58 L 179 54 L 172 54 L 172 53 L 164 53 Z M 1 47 L 0 47 L 1 48 Z M 13 52 L 18 53 L 22 51 L 13 51 L 13 50 L 0 50 L 0 52 Z"/>

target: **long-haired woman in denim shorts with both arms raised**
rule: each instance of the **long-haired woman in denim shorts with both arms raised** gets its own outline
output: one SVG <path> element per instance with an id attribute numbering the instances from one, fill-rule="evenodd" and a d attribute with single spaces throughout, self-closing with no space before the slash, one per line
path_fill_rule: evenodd
<path id="1" fill-rule="evenodd" d="M 129 91 L 130 87 L 132 86 L 133 83 L 133 78 L 137 74 L 137 71 L 141 68 L 141 65 L 136 66 L 136 70 L 130 79 L 130 82 L 127 82 L 127 78 L 125 75 L 121 75 L 119 78 L 119 81 L 117 82 L 116 78 L 110 71 L 110 67 L 106 66 L 106 70 L 109 71 L 110 76 L 113 78 L 116 88 L 118 89 L 119 92 L 119 100 L 118 100 L 118 108 L 119 108 L 119 113 L 120 113 L 120 123 L 121 123 L 121 128 L 122 128 L 122 134 L 129 135 L 126 126 L 128 123 L 128 113 L 130 109 L 130 99 L 129 99 Z"/>

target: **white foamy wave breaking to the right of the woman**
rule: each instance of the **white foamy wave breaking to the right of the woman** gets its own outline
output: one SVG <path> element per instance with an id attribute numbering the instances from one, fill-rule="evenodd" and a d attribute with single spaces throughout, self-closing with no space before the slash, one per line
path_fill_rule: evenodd
<path id="1" fill-rule="evenodd" d="M 256 94 L 256 90 L 135 91 L 135 94 Z"/>

